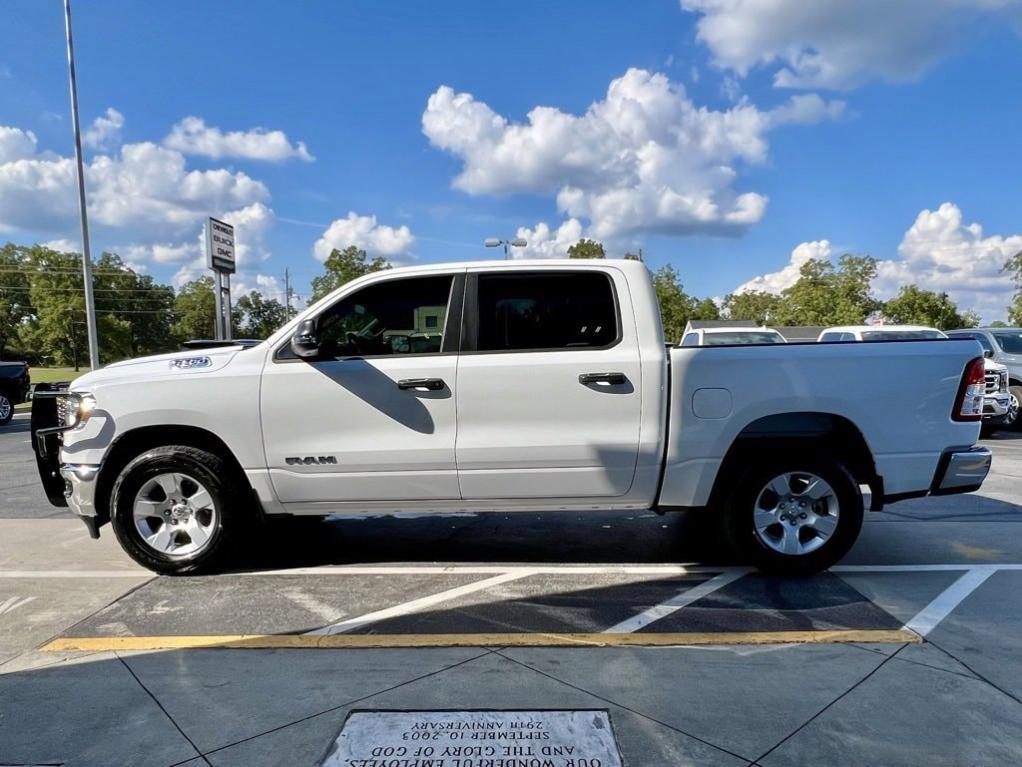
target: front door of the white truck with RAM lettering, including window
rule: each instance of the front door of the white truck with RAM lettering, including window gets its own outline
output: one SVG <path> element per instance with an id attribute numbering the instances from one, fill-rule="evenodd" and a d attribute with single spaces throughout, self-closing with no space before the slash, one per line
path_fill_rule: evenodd
<path id="1" fill-rule="evenodd" d="M 463 272 L 376 279 L 317 317 L 317 357 L 276 350 L 261 407 L 282 503 L 460 497 L 463 291 Z"/>

